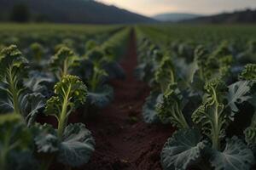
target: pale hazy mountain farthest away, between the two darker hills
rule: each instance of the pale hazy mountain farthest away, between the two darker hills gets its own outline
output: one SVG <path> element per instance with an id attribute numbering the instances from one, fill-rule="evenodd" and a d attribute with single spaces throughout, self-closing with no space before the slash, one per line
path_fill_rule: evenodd
<path id="1" fill-rule="evenodd" d="M 155 20 L 177 22 L 181 20 L 191 20 L 201 17 L 201 14 L 188 14 L 188 13 L 166 13 L 156 14 L 153 16 Z"/>

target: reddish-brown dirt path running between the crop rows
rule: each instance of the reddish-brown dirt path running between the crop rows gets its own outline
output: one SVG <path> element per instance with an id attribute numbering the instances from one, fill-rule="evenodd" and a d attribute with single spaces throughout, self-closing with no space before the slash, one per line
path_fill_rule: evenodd
<path id="1" fill-rule="evenodd" d="M 160 150 L 172 134 L 172 127 L 148 125 L 142 120 L 142 107 L 149 94 L 146 84 L 133 76 L 137 65 L 136 39 L 131 33 L 128 52 L 121 62 L 125 81 L 113 81 L 112 105 L 86 126 L 96 139 L 96 151 L 86 170 L 158 170 Z"/>

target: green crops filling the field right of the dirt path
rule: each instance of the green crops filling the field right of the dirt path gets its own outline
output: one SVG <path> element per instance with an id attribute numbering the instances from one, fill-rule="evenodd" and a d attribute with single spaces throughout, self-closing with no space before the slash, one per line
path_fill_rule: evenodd
<path id="1" fill-rule="evenodd" d="M 255 26 L 137 26 L 137 77 L 151 93 L 147 123 L 177 131 L 163 169 L 253 169 L 256 158 Z"/>

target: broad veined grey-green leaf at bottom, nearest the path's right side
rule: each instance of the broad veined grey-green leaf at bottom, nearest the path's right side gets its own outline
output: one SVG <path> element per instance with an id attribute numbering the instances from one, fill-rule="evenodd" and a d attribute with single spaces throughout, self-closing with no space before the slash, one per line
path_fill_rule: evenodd
<path id="1" fill-rule="evenodd" d="M 195 129 L 182 129 L 173 133 L 161 151 L 164 170 L 186 170 L 201 161 L 201 134 Z"/>

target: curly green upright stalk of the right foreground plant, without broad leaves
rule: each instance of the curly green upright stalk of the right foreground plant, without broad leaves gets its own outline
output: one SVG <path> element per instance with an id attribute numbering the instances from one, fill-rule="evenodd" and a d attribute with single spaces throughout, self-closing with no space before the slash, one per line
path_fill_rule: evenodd
<path id="1" fill-rule="evenodd" d="M 205 89 L 207 100 L 192 114 L 192 121 L 201 127 L 202 133 L 212 140 L 212 147 L 218 150 L 225 129 L 233 117 L 224 111 L 224 82 L 218 78 L 212 79 L 206 83 Z"/>

